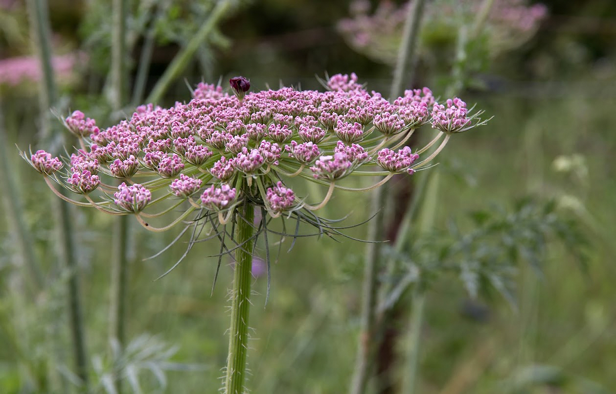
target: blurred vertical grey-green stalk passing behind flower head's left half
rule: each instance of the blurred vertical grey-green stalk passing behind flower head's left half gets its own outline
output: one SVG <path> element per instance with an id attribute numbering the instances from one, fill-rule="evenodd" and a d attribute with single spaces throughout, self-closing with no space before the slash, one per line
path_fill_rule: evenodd
<path id="1" fill-rule="evenodd" d="M 111 108 L 119 112 L 126 95 L 126 18 L 128 1 L 113 0 L 113 44 L 111 45 Z M 128 293 L 127 242 L 128 216 L 117 218 L 113 228 L 113 255 L 111 257 L 111 283 L 109 308 L 109 340 L 118 344 L 120 352 L 126 344 L 126 295 Z M 114 368 L 114 385 L 122 393 L 122 379 L 119 366 Z"/>

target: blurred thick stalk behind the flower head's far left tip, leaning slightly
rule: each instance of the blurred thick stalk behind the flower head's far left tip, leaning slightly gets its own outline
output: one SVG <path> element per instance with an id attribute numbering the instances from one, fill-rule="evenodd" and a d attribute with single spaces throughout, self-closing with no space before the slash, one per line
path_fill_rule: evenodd
<path id="1" fill-rule="evenodd" d="M 43 71 L 43 83 L 39 84 L 41 91 L 41 114 L 44 142 L 51 138 L 52 123 L 49 107 L 57 102 L 57 90 L 51 62 L 51 28 L 49 27 L 48 7 L 44 0 L 28 0 L 31 33 L 36 43 L 36 52 Z M 68 311 L 70 316 L 71 343 L 75 358 L 76 375 L 81 380 L 84 392 L 89 392 L 87 377 L 86 342 L 84 339 L 83 316 L 79 291 L 78 264 L 75 258 L 75 243 L 73 241 L 73 226 L 68 203 L 54 198 L 53 211 L 56 215 L 57 254 L 68 269 Z"/>

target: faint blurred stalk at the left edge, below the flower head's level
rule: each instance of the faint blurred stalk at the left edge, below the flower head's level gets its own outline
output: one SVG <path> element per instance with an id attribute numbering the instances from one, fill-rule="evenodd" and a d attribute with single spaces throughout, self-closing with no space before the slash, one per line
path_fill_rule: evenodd
<path id="1" fill-rule="evenodd" d="M 10 233 L 14 236 L 17 253 L 20 256 L 20 265 L 22 265 L 20 268 L 25 270 L 23 277 L 28 283 L 31 294 L 36 295 L 44 287 L 43 273 L 41 273 L 39 261 L 34 255 L 34 243 L 30 237 L 30 232 L 24 225 L 22 199 L 17 182 L 15 182 L 14 171 L 9 170 L 9 152 L 6 150 L 9 141 L 4 128 L 1 106 L 2 103 L 0 102 L 0 185 L 4 188 L 2 195 L 4 196 L 7 224 Z"/>

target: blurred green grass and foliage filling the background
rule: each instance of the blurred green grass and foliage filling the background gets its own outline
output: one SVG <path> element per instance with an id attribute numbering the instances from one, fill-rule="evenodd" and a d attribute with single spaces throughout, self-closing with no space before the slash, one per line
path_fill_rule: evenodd
<path id="1" fill-rule="evenodd" d="M 129 97 L 139 99 L 134 91 L 144 49 L 151 48 L 151 64 L 141 100 L 214 3 L 131 2 Z M 394 290 L 403 280 L 425 285 L 420 393 L 616 390 L 616 3 L 543 4 L 545 17 L 520 46 L 474 58 L 478 62 L 460 95 L 495 118 L 456 137 L 440 156 L 443 186 L 432 201 L 434 231 L 413 234 L 413 247 L 394 255 L 401 271 L 383 279 L 392 281 Z M 374 12 L 384 2 L 366 5 Z M 391 62 L 353 49 L 339 30 L 352 14 L 350 6 L 324 0 L 233 2 L 161 104 L 188 101 L 186 84 L 235 75 L 249 77 L 255 90 L 280 83 L 318 89 L 315 74 L 355 72 L 369 89 L 387 92 Z M 56 67 L 62 96 L 56 110 L 65 115 L 79 109 L 106 126 L 100 120 L 120 116 L 111 114 L 101 94 L 108 84 L 110 3 L 49 0 L 49 9 L 54 55 L 59 64 L 72 59 L 69 67 Z M 429 31 L 429 18 L 424 22 Z M 436 96 L 445 94 L 455 68 L 459 31 L 446 33 L 445 49 L 437 57 L 422 57 L 413 80 L 413 87 L 430 86 Z M 27 62 L 33 55 L 29 34 L 25 4 L 0 1 L 0 128 L 6 134 L 0 141 L 6 162 L 0 195 L 19 196 L 23 216 L 18 220 L 44 278 L 43 288 L 28 290 L 31 274 L 11 224 L 13 208 L 5 203 L 0 207 L 7 219 L 0 221 L 0 392 L 70 392 L 75 375 L 63 294 L 70 273 L 52 257 L 49 191 L 13 149 L 14 144 L 35 146 L 40 125 L 35 104 L 40 77 L 36 63 Z M 6 68 L 8 60 L 13 68 Z M 17 78 L 28 67 L 29 76 Z M 124 113 L 135 104 L 140 101 Z M 6 178 L 15 189 L 4 186 Z M 402 182 L 387 184 L 388 191 L 399 195 Z M 346 223 L 357 223 L 367 219 L 366 204 L 365 196 L 339 193 L 323 216 L 351 213 Z M 131 392 L 214 392 L 226 357 L 231 278 L 225 261 L 211 293 L 217 259 L 204 256 L 216 254 L 217 245 L 198 245 L 171 274 L 153 281 L 182 255 L 185 244 L 144 260 L 177 234 L 145 234 L 131 223 L 131 342 L 118 355 L 106 335 L 112 219 L 94 210 L 71 207 L 71 212 L 95 392 L 113 392 L 108 379 L 118 365 Z M 348 234 L 362 237 L 365 229 Z M 256 279 L 252 391 L 346 392 L 359 330 L 363 245 L 306 238 L 290 253 L 288 246 L 287 240 L 280 254 L 274 253 L 265 307 L 266 280 Z M 386 248 L 385 257 L 391 253 Z M 518 259 L 530 264 L 518 265 Z M 490 281 L 491 287 L 483 285 Z M 394 328 L 400 336 L 395 351 L 405 353 L 408 327 Z M 402 367 L 397 373 L 405 374 Z"/>

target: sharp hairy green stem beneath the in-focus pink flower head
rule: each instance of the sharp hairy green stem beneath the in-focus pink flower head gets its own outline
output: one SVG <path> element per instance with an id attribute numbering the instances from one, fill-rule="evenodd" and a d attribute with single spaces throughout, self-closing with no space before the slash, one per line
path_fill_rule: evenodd
<path id="1" fill-rule="evenodd" d="M 225 394 L 242 394 L 248 353 L 248 317 L 250 311 L 250 286 L 252 284 L 254 207 L 245 202 L 238 215 L 235 252 L 235 273 L 231 304 L 231 326 L 229 329 L 229 355 L 227 356 L 227 376 Z"/>

